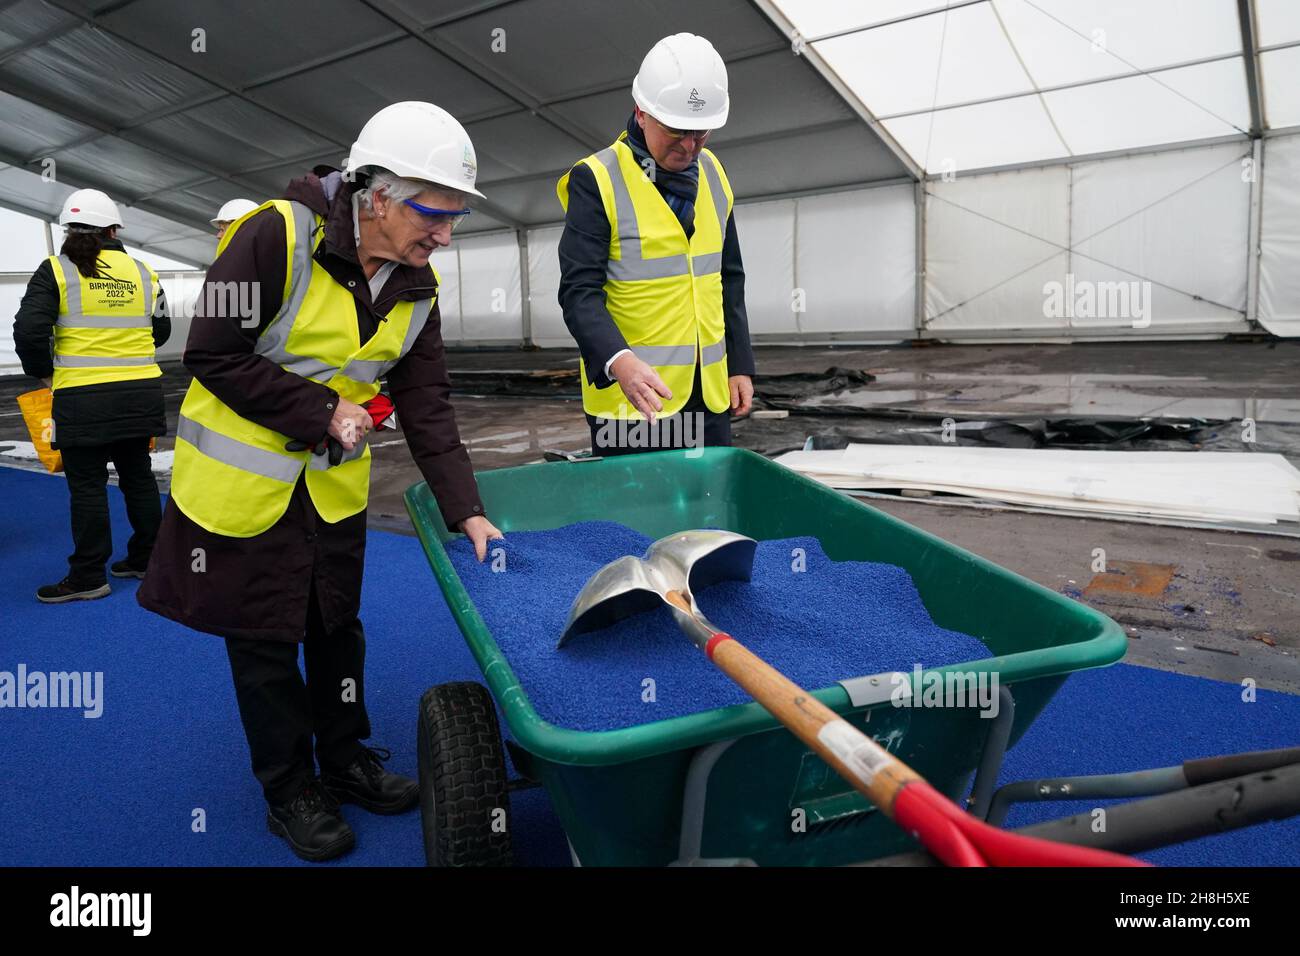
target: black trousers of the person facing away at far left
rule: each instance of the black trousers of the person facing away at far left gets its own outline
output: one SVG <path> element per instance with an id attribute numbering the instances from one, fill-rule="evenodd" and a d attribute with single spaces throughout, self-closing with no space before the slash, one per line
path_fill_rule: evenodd
<path id="1" fill-rule="evenodd" d="M 68 555 L 68 576 L 73 584 L 99 587 L 107 580 L 104 566 L 113 555 L 113 529 L 108 518 L 109 462 L 117 468 L 117 486 L 126 498 L 126 516 L 131 522 L 126 559 L 133 567 L 143 568 L 150 563 L 162 522 L 148 437 L 122 438 L 109 445 L 74 445 L 60 451 L 72 496 L 73 553 Z"/>

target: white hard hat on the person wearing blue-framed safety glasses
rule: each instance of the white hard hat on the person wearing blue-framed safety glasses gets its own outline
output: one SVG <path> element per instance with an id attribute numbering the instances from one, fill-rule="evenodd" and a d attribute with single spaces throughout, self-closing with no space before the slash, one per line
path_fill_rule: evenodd
<path id="1" fill-rule="evenodd" d="M 482 198 L 474 189 L 478 160 L 465 127 L 442 107 L 408 100 L 385 107 L 361 127 L 343 165 L 352 173 L 378 166 Z"/>

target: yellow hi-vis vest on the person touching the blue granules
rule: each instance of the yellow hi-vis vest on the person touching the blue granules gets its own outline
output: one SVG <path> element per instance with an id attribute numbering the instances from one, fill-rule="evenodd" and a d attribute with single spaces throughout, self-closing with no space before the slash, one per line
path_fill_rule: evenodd
<path id="1" fill-rule="evenodd" d="M 380 377 L 411 351 L 434 299 L 398 302 L 361 345 L 352 293 L 313 259 L 325 235 L 321 217 L 283 199 L 259 208 L 268 207 L 285 220 L 289 261 L 283 304 L 254 351 L 287 372 L 328 385 L 350 402 L 368 402 L 380 392 Z M 196 321 L 217 320 L 209 315 Z M 286 451 L 289 441 L 289 436 L 237 415 L 195 378 L 177 424 L 172 498 L 190 520 L 211 532 L 252 537 L 285 514 L 306 468 L 307 490 L 326 522 L 341 522 L 365 509 L 370 490 L 370 449 L 365 442 L 332 467 L 328 455 Z"/>

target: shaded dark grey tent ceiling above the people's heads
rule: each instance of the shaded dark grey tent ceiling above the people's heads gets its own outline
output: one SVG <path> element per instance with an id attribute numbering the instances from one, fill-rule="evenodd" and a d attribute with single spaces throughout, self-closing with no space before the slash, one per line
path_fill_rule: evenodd
<path id="1" fill-rule="evenodd" d="M 465 124 L 478 152 L 488 200 L 467 228 L 554 222 L 555 179 L 623 127 L 641 57 L 676 30 L 710 36 L 727 60 L 732 122 L 711 146 L 740 198 L 907 177 L 750 0 L 611 10 L 604 0 L 0 0 L 0 204 L 49 213 L 68 189 L 100 187 L 150 216 L 155 248 L 204 261 L 221 202 L 278 195 L 313 164 L 337 165 L 380 107 L 426 99 Z M 51 159 L 56 182 L 39 176 Z M 146 220 L 129 219 L 140 245 L 131 233 Z M 166 234 L 160 220 L 178 225 Z"/>

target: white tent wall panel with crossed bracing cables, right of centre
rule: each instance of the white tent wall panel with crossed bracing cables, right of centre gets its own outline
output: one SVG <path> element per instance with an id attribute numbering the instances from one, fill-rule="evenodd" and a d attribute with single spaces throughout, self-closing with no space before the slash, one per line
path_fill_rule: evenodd
<path id="1" fill-rule="evenodd" d="M 1249 156 L 1243 140 L 928 182 L 927 334 L 1247 332 Z"/>

